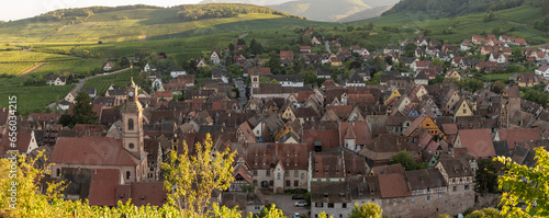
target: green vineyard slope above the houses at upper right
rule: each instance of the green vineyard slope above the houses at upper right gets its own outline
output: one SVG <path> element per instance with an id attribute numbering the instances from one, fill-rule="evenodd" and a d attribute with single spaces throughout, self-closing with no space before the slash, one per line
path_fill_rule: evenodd
<path id="1" fill-rule="evenodd" d="M 530 7 L 518 7 L 496 11 L 496 21 L 484 23 L 484 13 L 470 14 L 464 16 L 435 19 L 435 14 L 424 13 L 397 13 L 377 19 L 371 19 L 356 24 L 373 23 L 378 26 L 392 26 L 401 28 L 401 34 L 395 34 L 394 37 L 410 37 L 410 33 L 417 30 L 433 31 L 432 37 L 444 38 L 450 43 L 460 43 L 464 38 L 470 38 L 471 35 L 491 33 L 492 30 L 500 27 L 507 35 L 524 37 L 530 44 L 545 44 L 548 41 L 546 33 L 537 31 L 533 27 L 533 21 L 541 15 L 541 9 Z M 512 27 L 515 31 L 507 32 Z M 442 34 L 445 28 L 451 30 L 452 34 Z M 404 32 L 404 33 L 402 33 Z"/>

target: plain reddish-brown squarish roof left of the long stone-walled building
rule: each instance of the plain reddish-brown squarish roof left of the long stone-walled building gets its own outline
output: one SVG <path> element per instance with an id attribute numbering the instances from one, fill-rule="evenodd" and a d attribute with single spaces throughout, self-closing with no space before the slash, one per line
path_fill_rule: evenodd
<path id="1" fill-rule="evenodd" d="M 392 173 L 378 175 L 382 198 L 395 198 L 411 196 L 407 180 L 404 173 Z"/>

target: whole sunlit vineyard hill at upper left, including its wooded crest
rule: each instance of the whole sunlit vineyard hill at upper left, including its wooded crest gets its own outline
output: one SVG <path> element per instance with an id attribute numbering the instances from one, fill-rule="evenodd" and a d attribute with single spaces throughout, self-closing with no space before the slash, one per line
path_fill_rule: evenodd
<path id="1" fill-rule="evenodd" d="M 251 4 L 91 7 L 0 23 L 0 42 L 108 43 L 322 25 Z"/>

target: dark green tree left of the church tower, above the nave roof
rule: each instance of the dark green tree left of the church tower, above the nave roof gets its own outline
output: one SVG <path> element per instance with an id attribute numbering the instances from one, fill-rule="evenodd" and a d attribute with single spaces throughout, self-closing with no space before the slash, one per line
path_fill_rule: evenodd
<path id="1" fill-rule="evenodd" d="M 93 112 L 90 95 L 86 91 L 79 91 L 77 94 L 75 108 L 72 108 L 72 121 L 75 124 L 96 124 L 98 117 Z"/>

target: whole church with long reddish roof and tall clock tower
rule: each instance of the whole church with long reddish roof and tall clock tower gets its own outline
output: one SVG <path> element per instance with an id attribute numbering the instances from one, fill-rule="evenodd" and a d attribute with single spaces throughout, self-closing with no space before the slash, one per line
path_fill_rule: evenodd
<path id="1" fill-rule="evenodd" d="M 51 163 L 52 177 L 60 179 L 65 172 L 82 170 L 91 174 L 98 170 L 114 170 L 119 184 L 158 181 L 159 169 L 147 164 L 143 134 L 143 106 L 137 99 L 138 88 L 132 79 L 126 88 L 126 102 L 121 107 L 122 138 L 111 137 L 59 137 L 55 144 Z M 149 157 L 150 158 L 150 157 Z M 156 172 L 156 173 L 152 173 Z"/>

